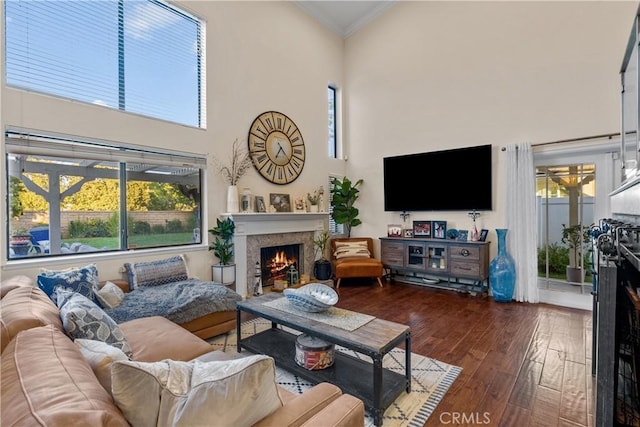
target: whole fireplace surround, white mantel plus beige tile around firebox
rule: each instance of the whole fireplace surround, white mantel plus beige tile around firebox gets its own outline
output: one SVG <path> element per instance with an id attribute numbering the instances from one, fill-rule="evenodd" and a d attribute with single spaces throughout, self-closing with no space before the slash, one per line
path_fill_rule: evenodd
<path id="1" fill-rule="evenodd" d="M 312 274 L 313 238 L 326 229 L 328 213 L 234 213 L 233 237 L 236 262 L 236 292 L 243 298 L 253 295 L 256 261 L 260 248 L 301 244 L 303 271 Z"/>

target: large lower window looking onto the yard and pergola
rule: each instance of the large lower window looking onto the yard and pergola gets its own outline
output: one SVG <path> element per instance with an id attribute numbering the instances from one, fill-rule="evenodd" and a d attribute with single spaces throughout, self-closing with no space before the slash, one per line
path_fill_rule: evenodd
<path id="1" fill-rule="evenodd" d="M 201 243 L 206 159 L 6 134 L 9 259 Z"/>

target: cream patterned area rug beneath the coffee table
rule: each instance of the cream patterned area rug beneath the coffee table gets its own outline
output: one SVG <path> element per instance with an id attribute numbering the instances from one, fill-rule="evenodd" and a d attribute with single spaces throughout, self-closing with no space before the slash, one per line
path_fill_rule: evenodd
<path id="1" fill-rule="evenodd" d="M 261 318 L 250 320 L 242 324 L 242 336 L 248 337 L 270 327 L 271 322 L 268 320 Z M 289 328 L 284 329 L 295 333 L 295 331 Z M 216 350 L 237 353 L 235 331 L 231 331 L 227 335 L 212 338 L 209 340 L 209 343 Z M 341 346 L 336 346 L 336 351 L 371 361 L 369 357 Z M 384 357 L 383 366 L 404 375 L 404 361 L 404 350 L 396 347 Z M 462 368 L 458 366 L 449 365 L 426 356 L 411 353 L 411 393 L 402 392 L 395 402 L 387 408 L 382 420 L 383 426 L 423 426 L 460 372 L 462 372 Z M 278 367 L 276 367 L 276 380 L 278 384 L 285 389 L 299 394 L 313 386 L 313 384 L 297 375 L 291 374 Z M 368 411 L 365 425 L 367 427 L 374 426 L 373 417 L 371 417 Z"/>

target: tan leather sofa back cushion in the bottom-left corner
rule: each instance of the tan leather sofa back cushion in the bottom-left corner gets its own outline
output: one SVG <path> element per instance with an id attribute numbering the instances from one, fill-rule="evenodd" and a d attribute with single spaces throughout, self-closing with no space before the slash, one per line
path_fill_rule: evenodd
<path id="1" fill-rule="evenodd" d="M 128 426 L 78 347 L 53 325 L 20 332 L 0 363 L 0 425 Z"/>

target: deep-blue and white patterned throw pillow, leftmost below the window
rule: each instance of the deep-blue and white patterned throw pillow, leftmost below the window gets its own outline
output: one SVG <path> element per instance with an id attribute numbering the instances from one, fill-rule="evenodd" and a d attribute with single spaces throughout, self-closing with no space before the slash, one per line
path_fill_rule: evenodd
<path id="1" fill-rule="evenodd" d="M 96 292 L 98 292 L 98 267 L 95 264 L 85 265 L 79 268 L 66 270 L 44 270 L 38 275 L 38 287 L 42 289 L 54 302 L 57 288 L 62 287 L 84 295 L 89 300 L 98 304 Z"/>

